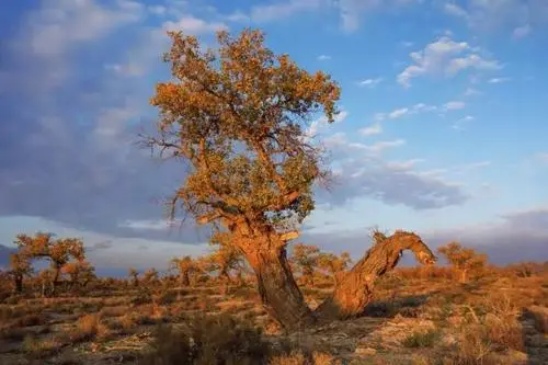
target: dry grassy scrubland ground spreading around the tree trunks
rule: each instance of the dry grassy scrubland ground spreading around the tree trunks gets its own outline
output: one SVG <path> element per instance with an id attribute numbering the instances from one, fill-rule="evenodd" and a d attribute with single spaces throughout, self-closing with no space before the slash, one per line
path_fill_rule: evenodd
<path id="1" fill-rule="evenodd" d="M 232 364 L 490 365 L 527 356 L 547 363 L 548 275 L 514 269 L 482 275 L 460 284 L 445 267 L 398 270 L 378 282 L 366 317 L 292 337 L 266 316 L 252 287 L 219 295 L 212 282 L 169 289 L 114 282 L 82 296 L 10 297 L 0 304 L 0 349 L 22 352 L 0 351 L 0 363 L 31 356 L 59 365 L 76 353 L 81 365 L 122 357 L 134 365 L 207 364 L 228 353 L 237 354 Z M 316 284 L 302 288 L 315 305 L 332 288 L 320 277 Z"/>

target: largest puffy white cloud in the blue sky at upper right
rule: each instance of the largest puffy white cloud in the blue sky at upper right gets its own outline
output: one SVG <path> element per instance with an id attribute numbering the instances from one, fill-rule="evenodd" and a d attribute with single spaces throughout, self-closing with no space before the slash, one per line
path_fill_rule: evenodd
<path id="1" fill-rule="evenodd" d="M 426 45 L 424 49 L 411 53 L 413 65 L 408 66 L 398 75 L 397 80 L 403 87 L 409 88 L 411 80 L 420 76 L 453 77 L 467 69 L 495 70 L 501 68 L 496 60 L 480 56 L 479 50 L 466 42 L 457 43 L 448 36 L 442 36 Z"/>

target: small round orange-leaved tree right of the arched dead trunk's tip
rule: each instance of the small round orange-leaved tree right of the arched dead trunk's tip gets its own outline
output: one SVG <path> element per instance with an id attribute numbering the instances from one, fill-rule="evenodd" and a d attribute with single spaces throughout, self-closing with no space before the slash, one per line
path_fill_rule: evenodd
<path id="1" fill-rule="evenodd" d="M 437 251 L 447 259 L 447 262 L 459 274 L 459 281 L 463 283 L 468 281 L 469 273 L 484 269 L 487 263 L 486 254 L 464 248 L 459 242 L 449 242 L 439 247 Z"/>

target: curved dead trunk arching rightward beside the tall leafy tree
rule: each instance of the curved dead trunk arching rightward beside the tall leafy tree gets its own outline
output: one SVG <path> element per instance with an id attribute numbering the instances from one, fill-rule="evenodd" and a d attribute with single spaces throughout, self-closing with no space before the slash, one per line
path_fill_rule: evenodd
<path id="1" fill-rule="evenodd" d="M 419 236 L 396 232 L 370 248 L 352 270 L 339 275 L 333 294 L 316 309 L 316 315 L 330 320 L 363 313 L 373 298 L 375 281 L 398 264 L 403 250 L 413 251 L 423 264 L 433 264 L 436 260 Z"/>

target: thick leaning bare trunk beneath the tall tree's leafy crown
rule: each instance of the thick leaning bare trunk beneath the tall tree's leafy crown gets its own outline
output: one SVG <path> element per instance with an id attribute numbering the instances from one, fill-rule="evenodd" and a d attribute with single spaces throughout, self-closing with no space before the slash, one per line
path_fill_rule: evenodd
<path id="1" fill-rule="evenodd" d="M 316 318 L 305 303 L 287 262 L 285 247 L 246 253 L 256 275 L 264 308 L 286 330 L 312 326 Z"/>

